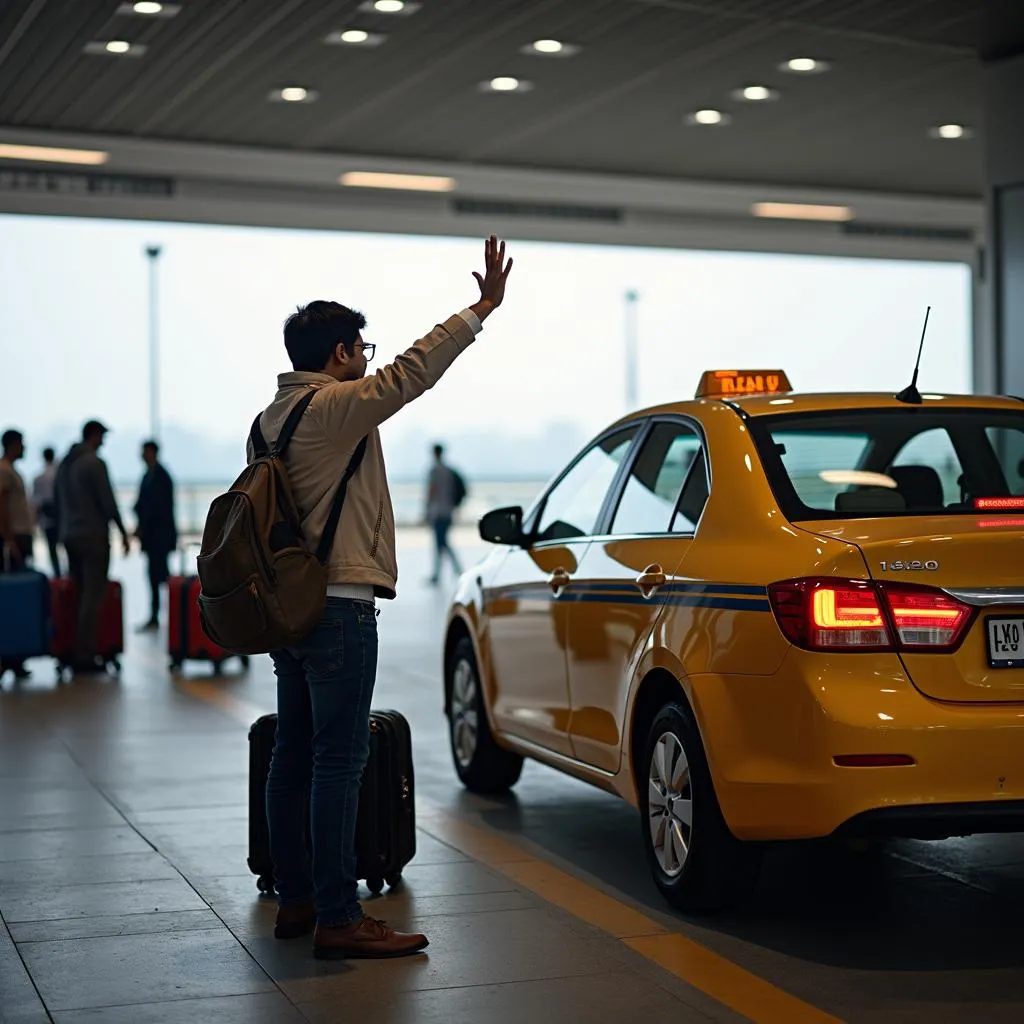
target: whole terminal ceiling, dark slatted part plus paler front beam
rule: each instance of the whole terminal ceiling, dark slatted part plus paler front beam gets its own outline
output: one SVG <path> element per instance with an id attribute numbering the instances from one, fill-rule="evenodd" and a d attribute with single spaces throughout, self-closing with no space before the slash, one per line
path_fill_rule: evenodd
<path id="1" fill-rule="evenodd" d="M 971 261 L 979 57 L 1024 36 L 1015 6 L 8 0 L 0 145 L 102 150 L 77 173 L 176 195 L 8 174 L 0 209 Z M 765 221 L 762 202 L 852 212 Z"/>

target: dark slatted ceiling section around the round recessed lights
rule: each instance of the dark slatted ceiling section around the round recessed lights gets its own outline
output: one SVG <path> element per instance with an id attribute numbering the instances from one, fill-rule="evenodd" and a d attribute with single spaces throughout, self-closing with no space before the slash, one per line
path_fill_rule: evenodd
<path id="1" fill-rule="evenodd" d="M 981 3 L 970 0 L 181 0 L 172 18 L 119 0 L 0 4 L 0 126 L 639 175 L 977 195 Z M 387 34 L 329 46 L 334 30 Z M 524 55 L 540 37 L 568 58 Z M 138 58 L 82 52 L 144 44 Z M 795 55 L 824 75 L 777 70 Z M 478 83 L 514 75 L 522 94 Z M 777 102 L 733 89 L 763 83 Z M 313 103 L 272 103 L 298 84 Z M 717 106 L 721 128 L 687 113 Z"/>

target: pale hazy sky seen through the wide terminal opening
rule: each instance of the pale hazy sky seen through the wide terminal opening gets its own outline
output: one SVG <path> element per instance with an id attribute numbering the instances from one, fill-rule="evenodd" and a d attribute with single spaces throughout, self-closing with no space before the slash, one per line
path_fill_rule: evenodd
<path id="1" fill-rule="evenodd" d="M 165 422 L 241 438 L 287 369 L 298 303 L 361 309 L 387 360 L 477 297 L 482 244 L 349 232 L 0 215 L 0 420 L 29 432 L 148 422 L 147 278 L 161 261 Z M 800 390 L 970 390 L 970 278 L 958 265 L 510 241 L 505 305 L 385 439 L 483 425 L 586 433 L 624 412 L 624 292 L 640 292 L 639 401 L 688 397 L 710 367 L 781 367 Z M 394 431 L 394 432 L 392 432 Z"/>

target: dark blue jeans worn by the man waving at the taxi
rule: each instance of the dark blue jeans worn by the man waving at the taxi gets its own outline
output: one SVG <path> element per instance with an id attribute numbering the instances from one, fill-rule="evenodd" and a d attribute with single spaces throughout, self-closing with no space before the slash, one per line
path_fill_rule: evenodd
<path id="1" fill-rule="evenodd" d="M 370 753 L 376 609 L 368 601 L 329 597 L 315 629 L 270 656 L 278 676 L 278 735 L 266 813 L 274 881 L 282 903 L 314 896 L 319 924 L 335 928 L 362 916 L 356 899 L 355 818 Z M 306 847 L 307 794 L 312 863 Z"/>

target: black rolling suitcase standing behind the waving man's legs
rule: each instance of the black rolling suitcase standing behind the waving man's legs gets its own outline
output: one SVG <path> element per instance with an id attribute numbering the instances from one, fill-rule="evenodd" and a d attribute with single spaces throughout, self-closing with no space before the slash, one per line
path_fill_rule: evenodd
<path id="1" fill-rule="evenodd" d="M 249 730 L 249 870 L 262 893 L 273 892 L 273 863 L 266 824 L 266 777 L 270 770 L 276 715 L 258 718 Z M 362 772 L 355 826 L 359 879 L 374 894 L 394 886 L 416 855 L 413 738 L 396 711 L 370 713 L 370 757 Z M 307 835 L 308 842 L 308 835 Z"/>

